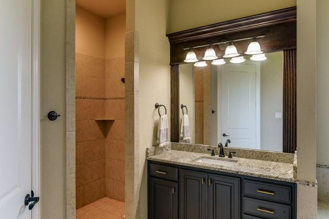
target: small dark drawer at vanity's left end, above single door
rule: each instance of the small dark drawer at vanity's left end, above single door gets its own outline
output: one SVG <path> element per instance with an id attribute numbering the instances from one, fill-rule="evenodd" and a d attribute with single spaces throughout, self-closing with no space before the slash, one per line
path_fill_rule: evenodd
<path id="1" fill-rule="evenodd" d="M 178 168 L 175 167 L 168 167 L 164 165 L 150 163 L 149 174 L 150 176 L 155 176 L 162 179 L 178 181 Z"/>

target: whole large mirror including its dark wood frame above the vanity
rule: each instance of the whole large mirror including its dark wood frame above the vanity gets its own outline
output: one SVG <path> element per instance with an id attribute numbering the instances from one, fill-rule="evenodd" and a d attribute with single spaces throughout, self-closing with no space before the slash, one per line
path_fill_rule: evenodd
<path id="1" fill-rule="evenodd" d="M 172 141 L 295 152 L 296 7 L 168 38 Z M 251 42 L 261 55 L 245 54 Z M 226 56 L 231 45 L 240 55 Z M 191 51 L 203 62 L 187 63 Z"/>

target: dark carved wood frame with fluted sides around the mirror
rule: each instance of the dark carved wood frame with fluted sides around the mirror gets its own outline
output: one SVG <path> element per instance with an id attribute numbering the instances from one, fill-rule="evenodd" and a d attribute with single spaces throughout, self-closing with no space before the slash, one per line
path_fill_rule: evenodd
<path id="1" fill-rule="evenodd" d="M 280 9 L 231 21 L 197 27 L 167 34 L 170 42 L 171 78 L 171 141 L 179 142 L 179 65 L 184 62 L 190 48 L 221 41 L 265 35 L 258 39 L 263 52 L 283 51 L 283 152 L 294 153 L 297 149 L 296 117 L 296 7 Z M 250 41 L 234 42 L 239 53 L 247 50 Z M 218 57 L 224 50 L 213 47 Z M 201 60 L 205 47 L 194 48 Z"/>

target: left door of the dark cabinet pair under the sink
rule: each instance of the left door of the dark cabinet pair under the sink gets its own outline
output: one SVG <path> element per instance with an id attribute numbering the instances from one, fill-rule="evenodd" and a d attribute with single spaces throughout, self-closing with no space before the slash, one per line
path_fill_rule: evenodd
<path id="1" fill-rule="evenodd" d="M 207 218 L 207 174 L 179 171 L 179 213 L 181 219 Z"/>

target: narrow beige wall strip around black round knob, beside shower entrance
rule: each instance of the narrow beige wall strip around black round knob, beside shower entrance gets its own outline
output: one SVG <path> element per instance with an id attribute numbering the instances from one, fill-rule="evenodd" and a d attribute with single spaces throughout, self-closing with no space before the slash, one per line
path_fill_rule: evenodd
<path id="1" fill-rule="evenodd" d="M 66 218 L 66 1 L 41 1 L 40 218 Z M 47 113 L 61 117 L 49 121 Z"/>

